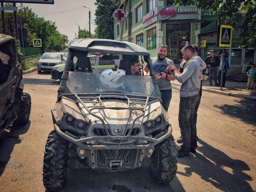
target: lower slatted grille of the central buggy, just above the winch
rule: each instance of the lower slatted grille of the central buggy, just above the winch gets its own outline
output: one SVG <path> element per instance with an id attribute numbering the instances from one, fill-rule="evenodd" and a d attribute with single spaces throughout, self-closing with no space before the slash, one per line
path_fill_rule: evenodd
<path id="1" fill-rule="evenodd" d="M 125 158 L 125 163 L 130 164 L 134 159 L 135 149 L 119 149 L 118 155 L 116 149 L 99 149 L 97 150 L 98 164 L 105 165 L 108 158 Z M 116 157 L 117 155 L 117 157 Z"/>

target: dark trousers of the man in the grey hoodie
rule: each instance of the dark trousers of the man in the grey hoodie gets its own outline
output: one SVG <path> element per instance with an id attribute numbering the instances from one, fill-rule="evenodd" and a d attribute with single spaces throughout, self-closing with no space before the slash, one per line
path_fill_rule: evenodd
<path id="1" fill-rule="evenodd" d="M 198 100 L 199 94 L 180 98 L 178 122 L 183 140 L 181 148 L 186 151 L 197 148 L 196 119 L 194 114 Z"/>

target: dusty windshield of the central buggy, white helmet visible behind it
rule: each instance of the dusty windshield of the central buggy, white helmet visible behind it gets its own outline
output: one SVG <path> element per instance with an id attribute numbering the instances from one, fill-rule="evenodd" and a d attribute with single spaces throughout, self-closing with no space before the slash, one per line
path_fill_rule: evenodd
<path id="1" fill-rule="evenodd" d="M 70 52 L 69 56 L 71 54 Z M 68 79 L 65 81 L 68 89 L 63 93 L 120 93 L 159 97 L 156 79 L 144 75 L 142 70 L 145 66 L 144 56 L 102 53 L 95 58 L 93 54 L 76 52 L 71 58 L 68 57 L 65 66 L 68 69 Z M 149 59 L 149 56 L 146 57 Z M 92 62 L 92 58 L 96 62 Z M 139 63 L 134 63 L 135 66 L 132 67 L 131 59 Z M 73 67 L 70 63 L 74 63 Z M 131 68 L 137 71 L 133 73 Z"/>

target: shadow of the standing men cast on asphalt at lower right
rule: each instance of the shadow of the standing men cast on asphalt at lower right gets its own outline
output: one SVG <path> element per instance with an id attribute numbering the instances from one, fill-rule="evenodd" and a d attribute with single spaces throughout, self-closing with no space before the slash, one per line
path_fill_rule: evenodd
<path id="1" fill-rule="evenodd" d="M 252 181 L 252 178 L 244 173 L 250 170 L 250 167 L 244 161 L 231 159 L 201 139 L 198 139 L 198 143 L 202 146 L 197 150 L 203 155 L 195 153 L 195 156 L 190 155 L 188 158 L 178 159 L 178 163 L 187 167 L 185 167 L 185 172 L 177 172 L 177 174 L 190 177 L 192 173 L 195 173 L 220 191 L 252 191 L 247 182 Z M 191 185 L 194 184 L 191 183 Z"/>

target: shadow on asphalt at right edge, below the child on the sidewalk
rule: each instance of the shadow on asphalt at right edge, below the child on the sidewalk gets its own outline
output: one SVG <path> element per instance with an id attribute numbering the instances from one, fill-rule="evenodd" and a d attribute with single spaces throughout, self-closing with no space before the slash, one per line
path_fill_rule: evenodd
<path id="1" fill-rule="evenodd" d="M 236 105 L 228 105 L 228 104 L 222 104 L 222 105 L 213 105 L 213 107 L 218 108 L 219 110 L 222 110 L 222 112 L 230 117 L 235 118 L 236 120 L 240 119 L 240 121 L 245 122 L 247 124 L 250 124 L 251 129 L 249 129 L 250 132 L 252 132 L 252 135 L 256 136 L 255 132 L 256 129 L 254 126 L 256 126 L 255 121 L 255 111 L 256 111 L 256 102 L 254 100 L 235 100 L 233 99 L 237 104 Z"/>

